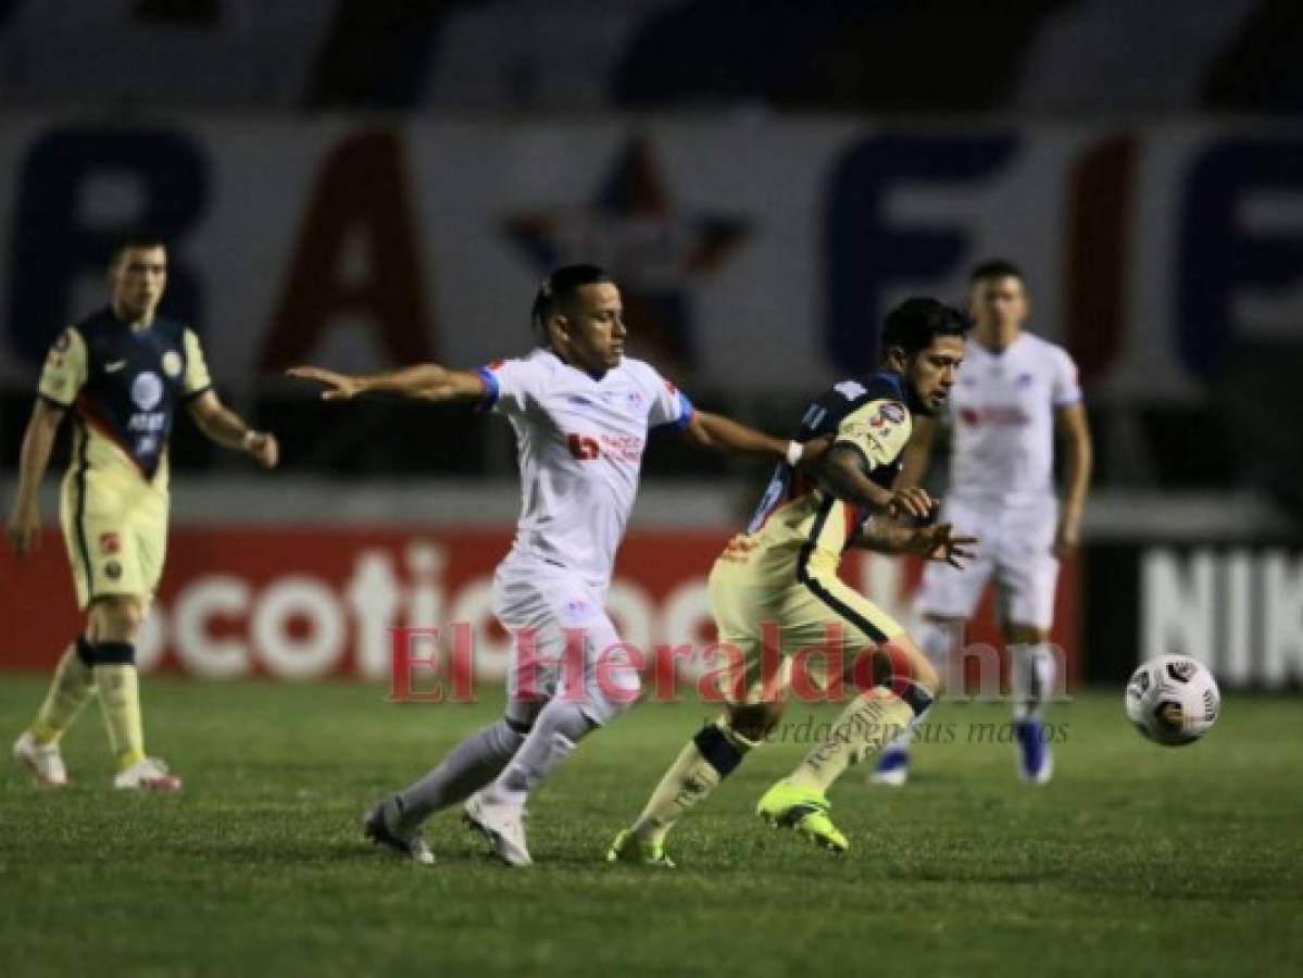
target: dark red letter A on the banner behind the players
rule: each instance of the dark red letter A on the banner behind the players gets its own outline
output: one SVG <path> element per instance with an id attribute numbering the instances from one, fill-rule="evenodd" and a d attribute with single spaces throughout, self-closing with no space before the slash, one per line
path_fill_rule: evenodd
<path id="1" fill-rule="evenodd" d="M 331 151 L 259 358 L 263 371 L 306 359 L 343 318 L 366 323 L 391 362 L 435 358 L 410 214 L 396 133 L 351 135 Z M 358 249 L 364 268 L 349 268 Z"/>

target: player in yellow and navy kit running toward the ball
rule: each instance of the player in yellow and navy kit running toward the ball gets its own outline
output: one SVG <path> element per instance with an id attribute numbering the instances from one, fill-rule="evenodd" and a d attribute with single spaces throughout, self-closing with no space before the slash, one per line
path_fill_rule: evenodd
<path id="1" fill-rule="evenodd" d="M 764 741 L 782 714 L 784 688 L 799 678 L 825 690 L 844 678 L 851 699 L 830 734 L 765 793 L 757 814 L 826 849 L 848 848 L 829 817 L 826 790 L 928 708 L 939 676 L 900 625 L 837 576 L 838 564 L 848 546 L 949 563 L 969 555 L 975 540 L 954 537 L 947 525 L 898 522 L 928 517 L 934 504 L 924 490 L 893 488 L 911 418 L 945 404 L 967 328 L 960 313 L 936 300 L 906 301 L 883 326 L 882 369 L 834 384 L 805 412 L 796 440 L 833 435 L 833 447 L 813 479 L 786 465 L 775 470 L 747 531 L 710 572 L 719 639 L 740 652 L 745 671 L 723 690 L 726 714 L 683 749 L 611 845 L 610 861 L 672 866 L 665 839 L 678 818 Z M 778 646 L 777 662 L 766 656 L 766 642 Z M 814 647 L 840 655 L 831 663 L 837 673 L 790 676 L 792 658 Z"/>

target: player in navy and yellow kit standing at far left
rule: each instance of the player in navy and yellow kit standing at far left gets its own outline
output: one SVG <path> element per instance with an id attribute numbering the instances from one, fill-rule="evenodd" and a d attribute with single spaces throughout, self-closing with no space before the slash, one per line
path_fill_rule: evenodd
<path id="1" fill-rule="evenodd" d="M 22 443 L 9 540 L 22 559 L 40 542 L 38 494 L 55 432 L 72 413 L 72 461 L 60 517 L 85 630 L 73 639 L 13 755 L 47 785 L 68 771 L 59 738 L 99 690 L 117 788 L 172 792 L 181 779 L 145 755 L 136 643 L 163 573 L 168 522 L 168 436 L 179 404 L 227 448 L 276 465 L 276 439 L 228 410 L 208 380 L 194 331 L 155 315 L 167 250 L 149 236 L 115 249 L 109 305 L 68 327 L 50 350 Z"/>

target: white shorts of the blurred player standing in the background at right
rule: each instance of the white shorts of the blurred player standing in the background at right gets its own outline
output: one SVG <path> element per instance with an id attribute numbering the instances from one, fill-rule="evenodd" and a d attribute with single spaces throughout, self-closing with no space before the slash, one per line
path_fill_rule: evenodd
<path id="1" fill-rule="evenodd" d="M 950 497 L 941 508 L 941 522 L 954 524 L 958 535 L 977 537 L 979 543 L 976 556 L 962 569 L 928 563 L 919 595 L 924 615 L 972 617 L 994 574 L 1001 620 L 1049 629 L 1058 583 L 1058 559 L 1053 550 L 1057 500 L 992 507 Z"/>

